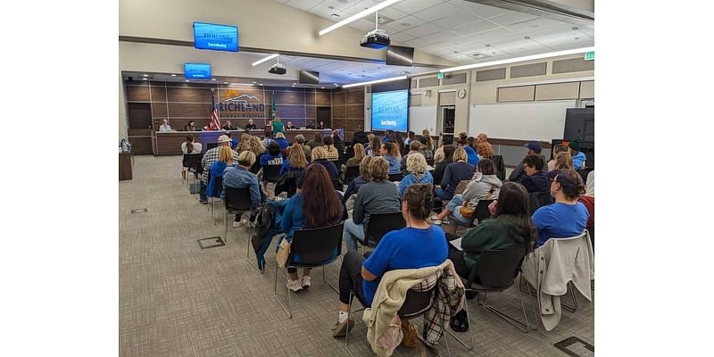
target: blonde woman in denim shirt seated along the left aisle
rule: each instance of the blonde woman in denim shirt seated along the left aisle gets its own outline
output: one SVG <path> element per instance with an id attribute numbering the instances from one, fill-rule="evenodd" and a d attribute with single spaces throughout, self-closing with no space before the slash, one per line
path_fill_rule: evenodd
<path id="1" fill-rule="evenodd" d="M 223 192 L 220 198 L 226 198 L 226 187 L 245 188 L 247 187 L 251 193 L 251 215 L 249 220 L 241 220 L 239 215 L 236 215 L 236 220 L 233 222 L 233 227 L 241 227 L 246 223 L 249 228 L 253 228 L 255 217 L 258 215 L 258 209 L 262 203 L 265 203 L 265 194 L 258 184 L 258 177 L 250 171 L 253 163 L 255 163 L 255 154 L 249 151 L 240 153 L 237 157 L 237 166 L 228 166 L 223 171 Z"/>

